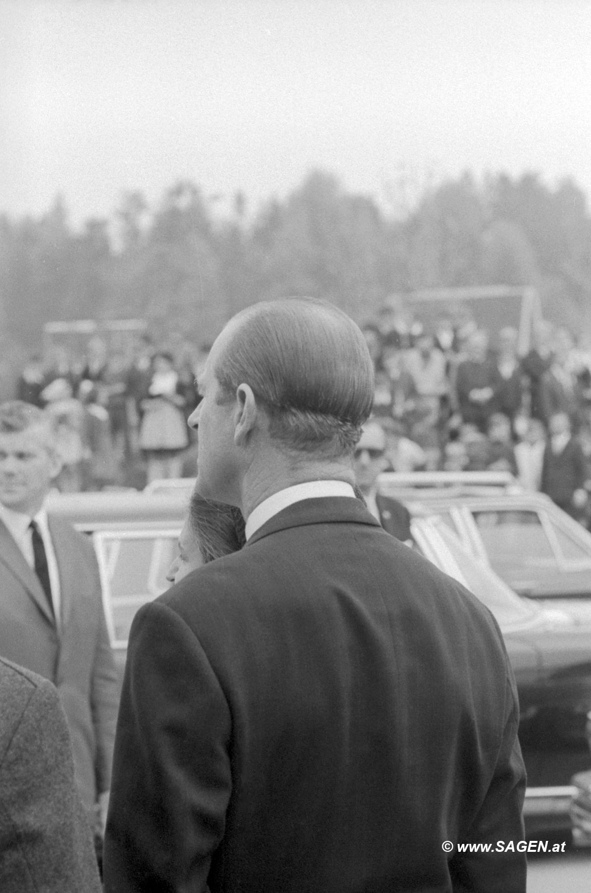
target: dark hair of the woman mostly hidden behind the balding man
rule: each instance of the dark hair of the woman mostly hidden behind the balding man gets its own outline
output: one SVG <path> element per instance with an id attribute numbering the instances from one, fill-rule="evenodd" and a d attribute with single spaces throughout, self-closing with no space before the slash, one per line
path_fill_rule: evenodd
<path id="1" fill-rule="evenodd" d="M 246 542 L 240 509 L 204 499 L 198 493 L 193 493 L 189 503 L 189 524 L 204 564 L 238 552 Z"/>

